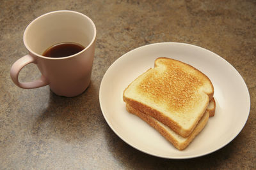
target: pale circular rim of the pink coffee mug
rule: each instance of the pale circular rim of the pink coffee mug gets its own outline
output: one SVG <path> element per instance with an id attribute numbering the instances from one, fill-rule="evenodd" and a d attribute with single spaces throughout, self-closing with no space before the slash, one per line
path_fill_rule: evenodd
<path id="1" fill-rule="evenodd" d="M 68 55 L 68 56 L 65 56 L 65 57 L 45 57 L 44 55 L 40 55 L 39 53 L 33 52 L 33 50 L 31 50 L 31 48 L 29 48 L 28 43 L 26 42 L 26 39 L 25 39 L 26 32 L 28 31 L 29 27 L 33 24 L 33 22 L 35 22 L 36 20 L 38 20 L 38 19 L 40 19 L 42 17 L 45 17 L 45 15 L 50 15 L 52 13 L 63 13 L 63 12 L 76 13 L 78 15 L 82 15 L 83 17 L 86 17 L 88 19 L 88 21 L 92 24 L 94 32 L 93 32 L 93 38 L 90 41 L 89 45 L 87 45 L 83 50 L 81 50 L 81 52 L 75 53 L 73 55 Z M 97 33 L 96 26 L 95 26 L 94 22 L 92 21 L 92 19 L 89 18 L 88 16 L 84 15 L 83 13 L 80 13 L 80 12 L 77 12 L 77 11 L 72 11 L 72 10 L 58 10 L 58 11 L 51 11 L 49 13 L 45 13 L 43 15 L 40 15 L 39 17 L 37 17 L 33 21 L 31 21 L 29 23 L 29 25 L 26 27 L 25 31 L 24 31 L 23 42 L 24 42 L 24 45 L 26 46 L 26 48 L 28 49 L 28 51 L 30 53 L 32 53 L 33 55 L 35 55 L 36 57 L 41 57 L 41 58 L 50 59 L 50 60 L 61 60 L 61 59 L 69 59 L 69 58 L 75 57 L 75 56 L 83 53 L 84 51 L 86 51 L 88 48 L 90 48 L 90 46 L 92 46 L 92 44 L 94 43 L 94 41 L 96 39 L 96 33 Z"/>

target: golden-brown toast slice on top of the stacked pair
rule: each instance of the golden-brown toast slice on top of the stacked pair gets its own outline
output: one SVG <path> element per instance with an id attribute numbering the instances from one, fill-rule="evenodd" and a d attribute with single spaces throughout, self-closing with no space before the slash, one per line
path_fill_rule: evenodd
<path id="1" fill-rule="evenodd" d="M 193 66 L 159 57 L 124 90 L 126 104 L 156 118 L 182 137 L 195 129 L 212 99 L 211 80 Z"/>

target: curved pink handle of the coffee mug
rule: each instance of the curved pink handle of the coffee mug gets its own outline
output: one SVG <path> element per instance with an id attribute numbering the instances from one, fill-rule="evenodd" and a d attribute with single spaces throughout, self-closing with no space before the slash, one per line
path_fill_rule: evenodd
<path id="1" fill-rule="evenodd" d="M 31 82 L 20 82 L 19 81 L 19 73 L 20 70 L 30 64 L 30 63 L 34 63 L 36 64 L 36 60 L 34 57 L 32 57 L 31 55 L 25 55 L 24 57 L 21 57 L 19 60 L 17 60 L 16 62 L 14 62 L 14 64 L 11 67 L 11 78 L 13 83 L 15 83 L 15 85 L 23 88 L 23 89 L 35 89 L 38 87 L 43 87 L 45 85 L 48 85 L 49 82 L 46 80 L 45 76 L 42 75 L 38 80 L 36 81 L 31 81 Z"/>

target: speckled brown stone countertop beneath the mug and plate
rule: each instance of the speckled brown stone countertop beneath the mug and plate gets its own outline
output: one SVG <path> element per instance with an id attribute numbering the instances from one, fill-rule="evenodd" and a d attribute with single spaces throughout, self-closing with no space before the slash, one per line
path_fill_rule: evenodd
<path id="1" fill-rule="evenodd" d="M 20 89 L 10 67 L 28 51 L 22 36 L 36 17 L 75 10 L 92 18 L 97 46 L 92 83 L 80 96 L 48 86 Z M 0 169 L 256 169 L 255 1 L 7 1 L 0 3 Z M 248 122 L 220 150 L 195 159 L 161 159 L 127 145 L 110 129 L 99 104 L 100 81 L 118 57 L 158 42 L 190 43 L 230 62 L 250 92 Z M 34 64 L 20 80 L 40 76 Z"/>

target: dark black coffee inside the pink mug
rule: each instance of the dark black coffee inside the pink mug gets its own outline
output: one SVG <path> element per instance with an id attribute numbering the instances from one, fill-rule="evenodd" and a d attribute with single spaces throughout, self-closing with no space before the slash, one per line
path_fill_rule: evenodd
<path id="1" fill-rule="evenodd" d="M 45 57 L 67 57 L 81 52 L 84 49 L 83 45 L 78 43 L 59 43 L 52 45 L 42 54 Z"/>

